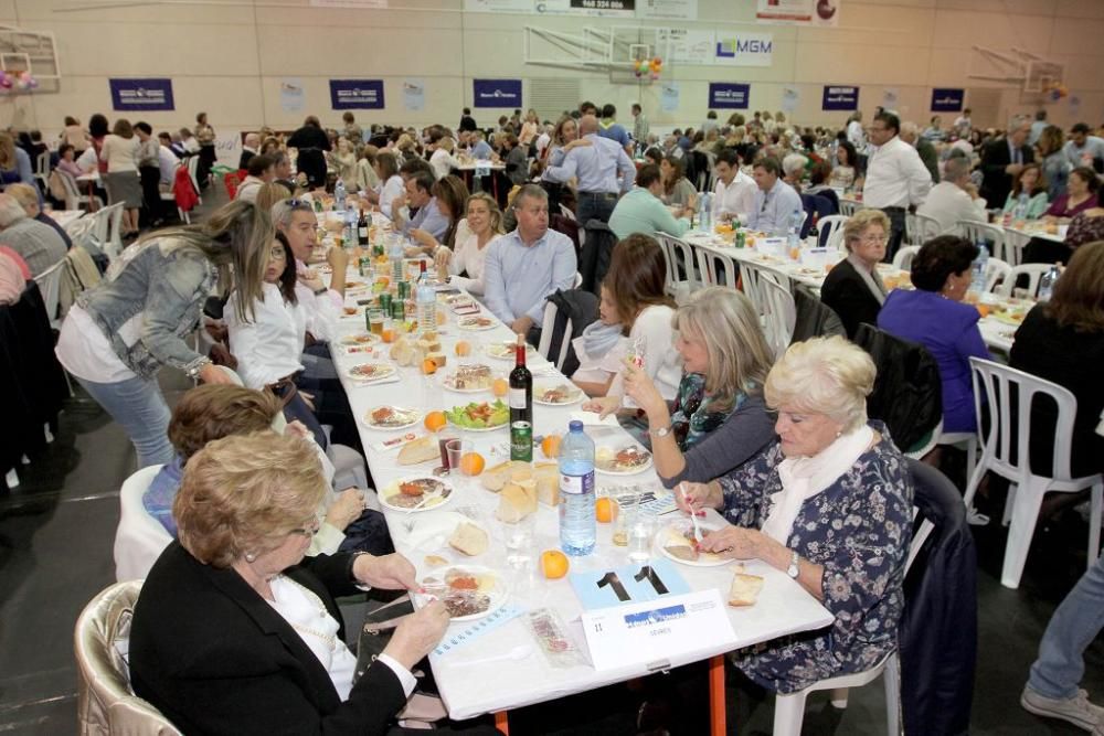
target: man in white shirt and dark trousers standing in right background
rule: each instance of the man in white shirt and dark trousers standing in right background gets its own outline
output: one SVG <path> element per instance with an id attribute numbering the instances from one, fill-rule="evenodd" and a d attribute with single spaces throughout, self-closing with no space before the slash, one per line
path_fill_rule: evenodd
<path id="1" fill-rule="evenodd" d="M 932 189 L 932 174 L 920 153 L 901 140 L 901 120 L 892 113 L 881 113 L 870 125 L 870 142 L 877 146 L 867 162 L 862 202 L 889 216 L 892 231 L 885 246 L 885 259 L 892 260 L 904 235 L 904 215 L 910 206 L 923 203 Z"/>

